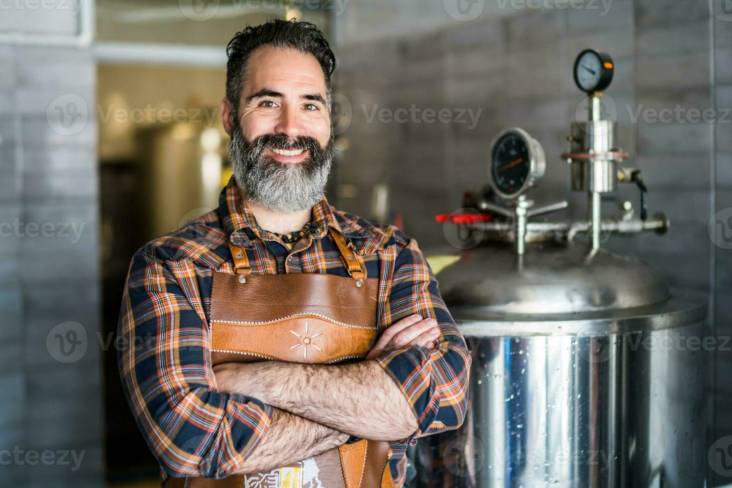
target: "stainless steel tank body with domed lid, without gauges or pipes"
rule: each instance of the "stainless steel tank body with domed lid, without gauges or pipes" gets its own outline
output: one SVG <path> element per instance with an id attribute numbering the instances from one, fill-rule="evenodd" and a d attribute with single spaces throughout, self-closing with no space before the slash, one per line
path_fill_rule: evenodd
<path id="1" fill-rule="evenodd" d="M 473 355 L 470 405 L 410 448 L 408 486 L 705 486 L 703 300 L 586 245 L 452 251 L 436 278 Z"/>

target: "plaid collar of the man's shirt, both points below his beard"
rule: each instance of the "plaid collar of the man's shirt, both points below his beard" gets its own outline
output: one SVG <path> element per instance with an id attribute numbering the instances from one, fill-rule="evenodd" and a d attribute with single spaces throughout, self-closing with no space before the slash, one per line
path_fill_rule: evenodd
<path id="1" fill-rule="evenodd" d="M 258 235 L 257 219 L 242 199 L 233 175 L 219 196 L 219 212 L 228 235 L 247 227 L 253 229 Z M 313 225 L 314 230 L 310 234 L 316 239 L 324 237 L 328 232 L 328 227 L 332 227 L 346 237 L 373 237 L 372 232 L 343 215 L 343 212 L 337 212 L 331 207 L 325 195 L 313 206 L 313 223 L 315 224 Z"/>

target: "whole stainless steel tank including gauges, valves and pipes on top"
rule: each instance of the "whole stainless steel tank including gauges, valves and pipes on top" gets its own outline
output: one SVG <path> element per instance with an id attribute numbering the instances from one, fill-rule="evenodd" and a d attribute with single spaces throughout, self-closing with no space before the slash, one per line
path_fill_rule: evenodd
<path id="1" fill-rule="evenodd" d="M 662 234 L 668 220 L 649 218 L 643 173 L 620 166 L 629 155 L 602 117 L 612 59 L 586 49 L 574 69 L 589 120 L 572 123 L 561 158 L 587 193 L 586 221 L 531 222 L 568 204 L 527 198 L 547 166 L 519 127 L 494 140 L 490 188 L 463 196 L 469 212 L 438 216 L 470 236 L 446 234 L 462 251 L 425 252 L 430 264 L 454 258 L 433 269 L 473 357 L 470 404 L 460 429 L 408 449 L 409 487 L 706 486 L 706 300 L 600 248 L 603 234 Z M 624 202 L 603 220 L 602 196 L 619 183 L 638 187 L 639 215 Z"/>

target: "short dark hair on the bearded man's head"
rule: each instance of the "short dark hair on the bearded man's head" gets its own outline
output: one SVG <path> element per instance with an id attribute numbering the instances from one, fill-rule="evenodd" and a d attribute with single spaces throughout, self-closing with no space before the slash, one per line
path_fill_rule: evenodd
<path id="1" fill-rule="evenodd" d="M 331 105 L 330 75 L 335 70 L 335 54 L 323 33 L 310 22 L 298 22 L 294 18 L 290 21 L 272 19 L 254 27 L 247 24 L 226 46 L 226 97 L 234 106 L 234 115 L 239 111 L 239 97 L 247 78 L 249 56 L 263 45 L 294 48 L 315 56 L 323 68 L 326 97 L 328 105 Z"/>

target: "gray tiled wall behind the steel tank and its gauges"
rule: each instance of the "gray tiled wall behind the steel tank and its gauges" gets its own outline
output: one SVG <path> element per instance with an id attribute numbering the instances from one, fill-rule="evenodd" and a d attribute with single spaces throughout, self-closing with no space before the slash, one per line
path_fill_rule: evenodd
<path id="1" fill-rule="evenodd" d="M 724 10 L 722 1 L 727 2 Z M 495 3 L 485 2 L 486 9 Z M 650 262 L 671 286 L 707 294 L 714 318 L 710 327 L 717 336 L 731 336 L 732 250 L 714 245 L 708 226 L 715 212 L 732 208 L 732 123 L 694 123 L 683 112 L 669 122 L 634 118 L 639 109 L 714 108 L 721 117 L 732 108 L 732 15 L 725 13 L 732 2 L 613 0 L 607 10 L 599 1 L 564 10 L 522 4 L 509 0 L 501 15 L 485 12 L 474 21 L 455 21 L 443 13 L 441 26 L 420 32 L 396 27 L 408 24 L 409 15 L 392 11 L 384 20 L 392 29 L 373 37 L 359 26 L 362 4 L 348 5 L 336 18 L 341 28 L 336 28 L 335 91 L 351 106 L 350 125 L 341 135 L 348 149 L 337 180 L 358 191 L 337 202 L 370 215 L 370 188 L 386 182 L 406 233 L 422 248 L 444 245 L 434 215 L 457 210 L 463 191 L 487 182 L 491 140 L 504 127 L 518 125 L 547 154 L 548 174 L 534 200 L 568 199 L 575 208 L 564 218 L 583 218 L 586 197 L 569 191 L 569 168 L 559 158 L 583 98 L 572 80 L 572 64 L 583 48 L 608 51 L 616 62 L 608 95 L 617 108 L 619 141 L 632 155 L 629 165 L 643 169 L 649 211 L 662 210 L 672 223 L 665 236 L 616 237 L 609 247 Z M 372 9 L 364 18 L 375 15 Z M 370 122 L 364 109 L 370 113 L 377 104 L 379 109 L 415 104 L 422 110 L 482 113 L 472 128 L 425 123 L 419 117 L 406 123 L 378 117 Z M 621 187 L 619 202 L 626 199 L 638 202 L 635 187 Z M 604 212 L 615 213 L 615 205 L 605 203 Z M 712 440 L 732 435 L 731 352 L 717 352 L 715 370 Z"/>

